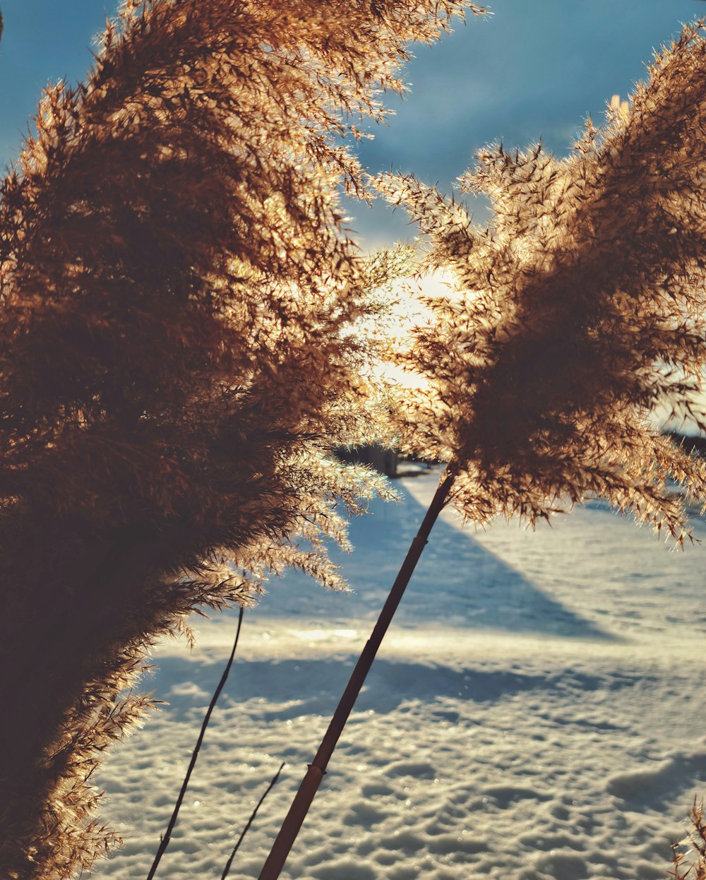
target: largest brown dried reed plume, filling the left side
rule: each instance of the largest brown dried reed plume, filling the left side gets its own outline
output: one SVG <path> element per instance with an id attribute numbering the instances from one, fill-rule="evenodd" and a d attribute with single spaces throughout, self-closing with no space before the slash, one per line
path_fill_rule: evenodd
<path id="1" fill-rule="evenodd" d="M 127 0 L 42 97 L 0 205 L 3 877 L 112 842 L 89 781 L 158 634 L 287 565 L 341 585 L 322 537 L 375 483 L 328 451 L 375 430 L 375 303 L 335 138 L 464 8 Z"/>

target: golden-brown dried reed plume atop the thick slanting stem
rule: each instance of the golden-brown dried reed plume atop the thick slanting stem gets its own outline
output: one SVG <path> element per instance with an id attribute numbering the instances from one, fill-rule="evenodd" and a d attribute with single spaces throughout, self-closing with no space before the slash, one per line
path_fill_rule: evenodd
<path id="1" fill-rule="evenodd" d="M 706 428 L 706 40 L 685 27 L 645 84 L 586 123 L 568 158 L 540 144 L 477 154 L 462 191 L 489 228 L 411 177 L 378 187 L 430 239 L 448 297 L 397 351 L 428 383 L 405 392 L 406 449 L 453 463 L 477 524 L 530 524 L 587 493 L 683 543 L 706 467 L 662 436 L 655 407 Z"/>

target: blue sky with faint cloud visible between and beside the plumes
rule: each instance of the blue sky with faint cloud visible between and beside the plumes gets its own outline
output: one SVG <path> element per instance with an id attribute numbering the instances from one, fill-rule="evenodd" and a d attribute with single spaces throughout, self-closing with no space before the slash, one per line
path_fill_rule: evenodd
<path id="1" fill-rule="evenodd" d="M 206 0 L 204 0 L 206 2 Z M 405 70 L 410 94 L 389 97 L 397 115 L 360 145 L 371 171 L 413 172 L 449 192 L 475 150 L 502 138 L 507 146 L 542 136 L 565 152 L 587 114 L 602 120 L 606 101 L 623 98 L 644 77 L 654 48 L 681 22 L 706 15 L 702 0 L 489 0 L 493 16 L 465 26 L 431 48 L 416 47 Z M 84 77 L 93 35 L 113 0 L 0 0 L 0 159 L 16 155 L 40 90 Z M 483 219 L 483 207 L 477 209 Z M 404 215 L 381 205 L 352 206 L 365 246 L 408 238 Z"/>

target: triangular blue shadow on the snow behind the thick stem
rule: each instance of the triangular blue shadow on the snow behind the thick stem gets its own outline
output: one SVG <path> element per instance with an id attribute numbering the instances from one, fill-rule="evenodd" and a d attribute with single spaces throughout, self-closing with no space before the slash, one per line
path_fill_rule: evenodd
<path id="1" fill-rule="evenodd" d="M 353 594 L 322 590 L 309 577 L 288 572 L 273 578 L 253 616 L 292 616 L 302 626 L 375 620 L 425 513 L 403 487 L 397 489 L 400 504 L 373 502 L 365 517 L 352 520 L 353 554 L 331 554 Z M 393 626 L 426 624 L 615 640 L 443 520 L 434 524 Z"/>

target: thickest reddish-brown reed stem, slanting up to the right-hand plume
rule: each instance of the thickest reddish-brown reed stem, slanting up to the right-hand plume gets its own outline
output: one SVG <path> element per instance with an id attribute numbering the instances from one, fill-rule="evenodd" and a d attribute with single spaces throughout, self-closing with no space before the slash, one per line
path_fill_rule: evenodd
<path id="1" fill-rule="evenodd" d="M 267 861 L 260 872 L 259 880 L 277 880 L 277 877 L 280 876 L 280 871 L 284 867 L 284 863 L 287 861 L 289 850 L 292 848 L 292 845 L 296 840 L 296 835 L 302 827 L 302 822 L 309 811 L 311 802 L 317 794 L 317 788 L 319 787 L 321 780 L 324 778 L 326 766 L 328 765 L 333 750 L 336 748 L 338 738 L 346 726 L 346 721 L 353 710 L 355 700 L 357 699 L 360 689 L 368 675 L 368 671 L 370 671 L 370 667 L 375 660 L 377 649 L 380 648 L 382 638 L 387 632 L 394 613 L 397 611 L 397 605 L 399 605 L 404 590 L 410 582 L 412 572 L 414 571 L 414 568 L 419 561 L 419 557 L 422 554 L 422 550 L 424 550 L 426 545 L 426 539 L 428 539 L 429 533 L 432 531 L 432 526 L 441 512 L 444 502 L 446 502 L 448 493 L 454 483 L 454 479 L 455 473 L 449 467 L 444 480 L 441 480 L 439 488 L 437 488 L 436 494 L 433 496 L 432 503 L 429 505 L 429 510 L 426 511 L 426 516 L 422 520 L 422 524 L 419 526 L 417 537 L 411 542 L 410 549 L 407 551 L 407 555 L 402 563 L 402 568 L 400 568 L 395 583 L 393 583 L 392 589 L 389 591 L 387 601 L 382 606 L 382 611 L 375 623 L 375 628 L 373 629 L 368 642 L 366 642 L 366 646 L 358 658 L 358 663 L 355 664 L 355 669 L 351 674 L 346 690 L 338 702 L 338 708 L 331 718 L 329 729 L 326 730 L 316 757 L 313 762 L 309 764 L 307 774 L 304 776 L 302 784 L 299 786 L 299 790 L 289 808 L 287 817 L 282 823 L 280 832 L 270 850 L 270 854 L 267 856 Z"/>

